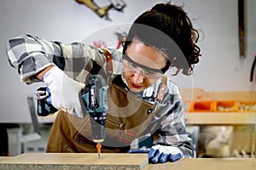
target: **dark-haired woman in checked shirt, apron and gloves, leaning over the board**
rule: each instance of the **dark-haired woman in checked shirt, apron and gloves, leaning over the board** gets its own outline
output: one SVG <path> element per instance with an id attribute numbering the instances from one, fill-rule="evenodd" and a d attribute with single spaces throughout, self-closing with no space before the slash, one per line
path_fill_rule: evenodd
<path id="1" fill-rule="evenodd" d="M 127 152 L 134 139 L 149 139 L 149 161 L 158 163 L 195 157 L 181 96 L 164 73 L 170 67 L 185 75 L 193 72 L 200 56 L 198 37 L 183 8 L 159 3 L 134 21 L 123 54 L 32 35 L 10 39 L 7 50 L 21 80 L 45 82 L 52 105 L 60 110 L 47 152 L 96 152 L 80 92 L 88 77 L 99 74 L 109 86 L 102 152 Z"/>

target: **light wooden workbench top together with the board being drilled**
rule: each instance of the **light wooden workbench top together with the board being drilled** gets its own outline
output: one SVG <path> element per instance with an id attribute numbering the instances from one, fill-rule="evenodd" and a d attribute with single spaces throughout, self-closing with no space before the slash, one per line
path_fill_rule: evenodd
<path id="1" fill-rule="evenodd" d="M 89 154 L 90 155 L 90 154 Z M 93 155 L 96 157 L 96 154 Z M 110 159 L 109 157 L 112 158 Z M 19 158 L 20 157 L 20 158 Z M 26 158 L 27 157 L 27 158 Z M 41 159 L 38 160 L 38 157 Z M 162 164 L 148 164 L 147 154 L 102 154 L 102 162 L 104 158 L 108 159 L 108 164 L 118 163 L 119 159 L 123 159 L 126 163 L 126 167 L 90 167 L 86 165 L 88 161 L 88 154 L 25 154 L 22 156 L 13 157 L 0 157 L 0 169 L 41 169 L 41 170 L 59 170 L 59 169 L 141 169 L 141 170 L 160 170 L 160 169 L 178 169 L 178 170 L 255 170 L 256 159 L 253 158 L 183 158 L 175 162 L 166 162 Z M 90 156 L 89 156 L 90 157 Z M 113 158 L 115 157 L 115 158 Z M 26 158 L 26 160 L 24 160 Z M 125 158 L 125 159 L 124 159 Z M 37 160 L 37 161 L 35 161 Z M 97 161 L 97 160 L 94 160 Z M 135 165 L 138 161 L 142 164 L 140 167 L 132 168 L 127 167 L 131 161 L 134 161 Z M 97 163 L 96 163 L 97 164 Z M 95 165 L 96 165 L 95 164 Z M 8 167 L 12 165 L 12 167 Z M 87 167 L 87 168 L 86 168 Z"/>

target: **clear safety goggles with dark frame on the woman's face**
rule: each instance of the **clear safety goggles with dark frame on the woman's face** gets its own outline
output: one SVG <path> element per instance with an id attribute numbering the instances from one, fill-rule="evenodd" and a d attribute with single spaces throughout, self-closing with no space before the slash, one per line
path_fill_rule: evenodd
<path id="1" fill-rule="evenodd" d="M 142 73 L 143 77 L 147 77 L 149 79 L 160 78 L 170 67 L 171 63 L 167 59 L 166 66 L 162 69 L 154 69 L 145 65 L 141 65 L 136 61 L 132 60 L 127 54 L 123 54 L 123 59 L 125 59 L 124 66 L 129 71 L 139 71 Z"/>

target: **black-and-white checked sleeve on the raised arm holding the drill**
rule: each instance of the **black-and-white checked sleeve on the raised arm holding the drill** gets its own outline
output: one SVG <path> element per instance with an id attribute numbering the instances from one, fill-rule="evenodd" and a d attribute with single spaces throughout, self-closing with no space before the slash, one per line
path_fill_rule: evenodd
<path id="1" fill-rule="evenodd" d="M 34 75 L 49 65 L 58 66 L 68 77 L 79 82 L 84 82 L 88 73 L 96 74 L 102 69 L 104 71 L 106 65 L 102 48 L 94 48 L 81 42 L 65 44 L 23 35 L 10 39 L 6 50 L 9 64 L 16 68 L 20 80 L 27 84 L 38 82 Z M 119 63 L 119 51 L 111 49 L 110 52 L 113 54 L 113 64 L 115 61 Z"/>

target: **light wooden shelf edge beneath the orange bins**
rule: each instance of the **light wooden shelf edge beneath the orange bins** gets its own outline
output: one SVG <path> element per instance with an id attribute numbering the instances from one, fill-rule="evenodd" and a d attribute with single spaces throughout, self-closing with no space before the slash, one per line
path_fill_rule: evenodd
<path id="1" fill-rule="evenodd" d="M 185 122 L 189 125 L 256 125 L 256 112 L 189 112 L 185 114 Z"/>

